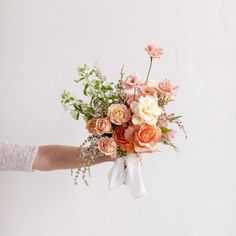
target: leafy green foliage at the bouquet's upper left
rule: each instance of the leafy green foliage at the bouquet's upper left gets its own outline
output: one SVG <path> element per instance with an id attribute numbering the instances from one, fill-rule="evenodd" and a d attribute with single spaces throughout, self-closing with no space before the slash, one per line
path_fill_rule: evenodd
<path id="1" fill-rule="evenodd" d="M 93 117 L 104 117 L 107 114 L 108 107 L 113 103 L 122 102 L 124 99 L 124 91 L 121 92 L 121 80 L 118 80 L 117 85 L 113 82 L 108 82 L 97 66 L 90 69 L 86 64 L 77 69 L 79 78 L 74 80 L 76 83 L 83 82 L 83 94 L 90 98 L 88 103 L 83 102 L 70 92 L 64 90 L 61 94 L 61 103 L 65 109 L 72 108 L 71 114 L 74 119 L 78 120 L 80 115 L 85 120 Z M 123 70 L 122 70 L 123 73 Z"/>

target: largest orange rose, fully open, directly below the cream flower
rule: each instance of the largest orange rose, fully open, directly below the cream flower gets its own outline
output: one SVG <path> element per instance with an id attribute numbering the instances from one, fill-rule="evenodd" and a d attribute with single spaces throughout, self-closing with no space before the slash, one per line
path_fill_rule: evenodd
<path id="1" fill-rule="evenodd" d="M 134 130 L 134 150 L 136 152 L 154 152 L 158 150 L 161 140 L 161 129 L 155 125 L 142 124 Z"/>

